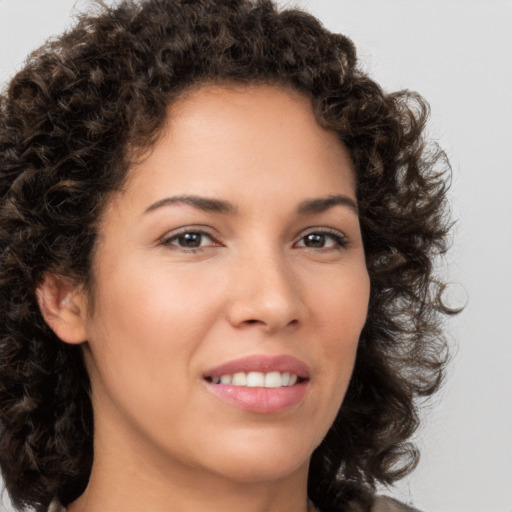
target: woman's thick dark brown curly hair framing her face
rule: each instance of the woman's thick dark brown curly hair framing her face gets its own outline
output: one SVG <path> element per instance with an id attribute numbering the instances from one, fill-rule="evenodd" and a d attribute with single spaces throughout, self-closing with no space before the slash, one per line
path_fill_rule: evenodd
<path id="1" fill-rule="evenodd" d="M 0 466 L 19 509 L 77 498 L 93 451 L 82 352 L 46 325 L 35 290 L 45 272 L 90 284 L 109 194 L 155 141 L 169 104 L 223 82 L 308 95 L 356 169 L 369 314 L 345 400 L 311 460 L 310 498 L 322 511 L 369 510 L 376 484 L 417 462 L 410 438 L 444 375 L 449 312 L 433 264 L 447 249 L 450 168 L 425 141 L 428 105 L 384 93 L 348 38 L 300 10 L 128 0 L 82 15 L 0 96 Z"/>

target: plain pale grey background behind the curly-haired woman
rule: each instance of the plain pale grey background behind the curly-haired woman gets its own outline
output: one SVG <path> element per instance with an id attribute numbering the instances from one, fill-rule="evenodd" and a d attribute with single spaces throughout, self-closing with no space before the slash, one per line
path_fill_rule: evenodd
<path id="1" fill-rule="evenodd" d="M 448 323 L 454 360 L 425 411 L 420 465 L 384 492 L 425 512 L 512 512 L 512 1 L 280 3 L 349 35 L 386 90 L 419 91 L 453 166 L 458 223 L 444 271 L 467 307 Z M 74 4 L 0 0 L 0 83 L 69 26 Z"/>

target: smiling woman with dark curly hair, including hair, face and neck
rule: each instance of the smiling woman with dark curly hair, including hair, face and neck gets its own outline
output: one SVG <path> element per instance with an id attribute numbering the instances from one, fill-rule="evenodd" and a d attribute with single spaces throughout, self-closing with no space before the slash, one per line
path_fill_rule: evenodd
<path id="1" fill-rule="evenodd" d="M 20 509 L 385 511 L 441 382 L 443 154 L 344 36 L 123 2 L 2 97 L 0 466 Z"/>

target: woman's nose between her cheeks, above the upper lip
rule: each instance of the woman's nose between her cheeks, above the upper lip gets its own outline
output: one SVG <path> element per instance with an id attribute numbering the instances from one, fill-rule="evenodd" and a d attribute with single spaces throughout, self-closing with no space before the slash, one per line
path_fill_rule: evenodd
<path id="1" fill-rule="evenodd" d="M 304 320 L 299 280 L 278 256 L 253 254 L 238 261 L 231 288 L 228 319 L 234 327 L 254 326 L 271 334 Z"/>

